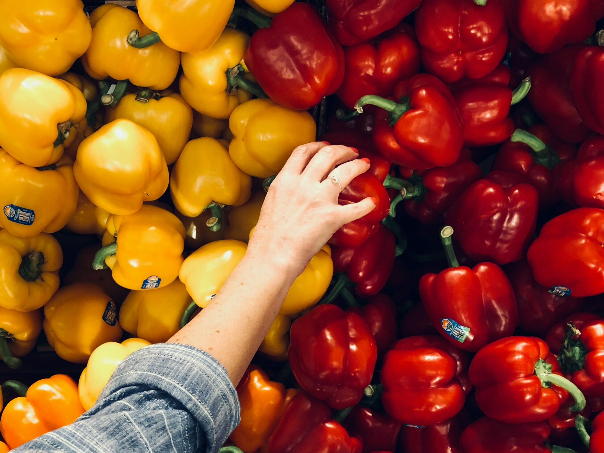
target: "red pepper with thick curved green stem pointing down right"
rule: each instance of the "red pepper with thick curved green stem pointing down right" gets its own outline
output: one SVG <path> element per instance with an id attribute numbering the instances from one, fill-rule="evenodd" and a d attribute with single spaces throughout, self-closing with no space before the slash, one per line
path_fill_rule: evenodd
<path id="1" fill-rule="evenodd" d="M 472 359 L 468 376 L 480 410 L 500 422 L 546 420 L 568 393 L 575 401 L 572 411 L 585 408 L 585 397 L 559 373 L 556 358 L 541 338 L 510 336 L 487 344 Z"/>

